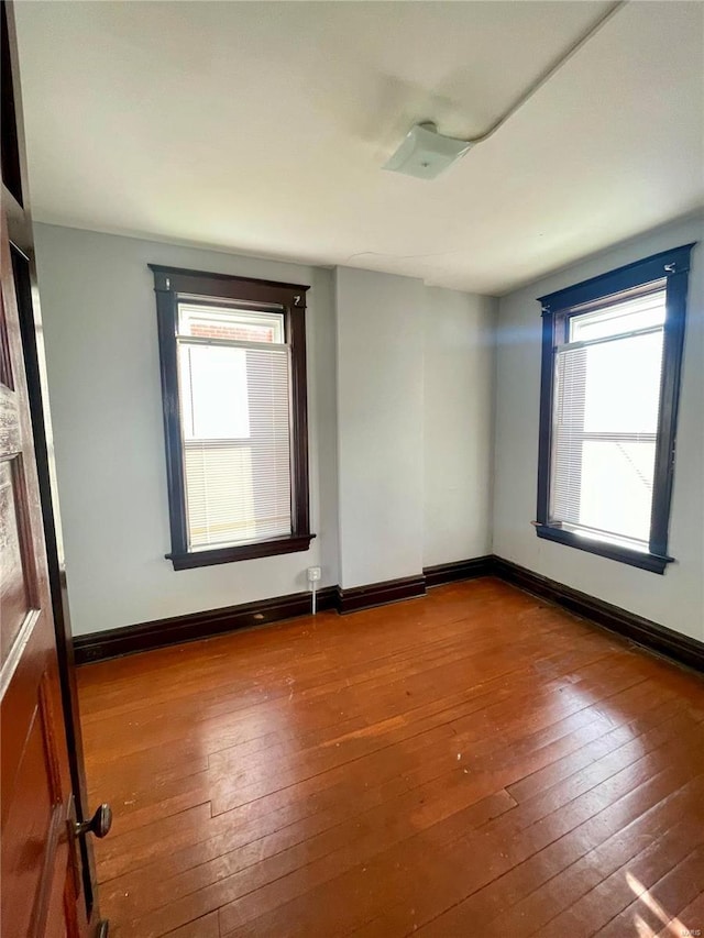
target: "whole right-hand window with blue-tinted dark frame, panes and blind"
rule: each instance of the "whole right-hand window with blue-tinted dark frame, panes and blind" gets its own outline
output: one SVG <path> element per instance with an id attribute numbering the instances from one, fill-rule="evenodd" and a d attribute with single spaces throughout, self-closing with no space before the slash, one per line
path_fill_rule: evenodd
<path id="1" fill-rule="evenodd" d="M 663 573 L 693 245 L 541 297 L 537 533 Z"/>

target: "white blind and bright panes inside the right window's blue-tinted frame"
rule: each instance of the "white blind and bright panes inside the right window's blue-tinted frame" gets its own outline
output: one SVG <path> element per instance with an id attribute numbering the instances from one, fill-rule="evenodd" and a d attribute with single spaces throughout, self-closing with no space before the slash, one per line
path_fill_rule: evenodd
<path id="1" fill-rule="evenodd" d="M 666 291 L 570 314 L 554 350 L 549 523 L 647 551 Z"/>

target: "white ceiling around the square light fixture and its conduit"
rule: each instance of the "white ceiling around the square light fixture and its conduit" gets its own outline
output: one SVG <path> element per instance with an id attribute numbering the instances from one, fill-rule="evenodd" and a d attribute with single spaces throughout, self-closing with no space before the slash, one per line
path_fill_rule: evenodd
<path id="1" fill-rule="evenodd" d="M 704 4 L 16 3 L 35 219 L 501 294 L 704 202 Z"/>

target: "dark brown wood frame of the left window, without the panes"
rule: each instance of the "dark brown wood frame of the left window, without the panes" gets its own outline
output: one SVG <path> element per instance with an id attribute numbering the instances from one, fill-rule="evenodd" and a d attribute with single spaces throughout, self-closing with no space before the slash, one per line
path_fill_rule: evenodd
<path id="1" fill-rule="evenodd" d="M 185 271 L 150 264 L 154 275 L 158 345 L 164 401 L 164 435 L 166 443 L 166 475 L 170 518 L 172 551 L 166 554 L 174 570 L 211 566 L 253 558 L 306 551 L 315 534 L 310 533 L 308 486 L 308 409 L 306 378 L 306 294 L 309 287 L 298 284 L 279 284 L 213 274 Z M 178 371 L 176 331 L 178 302 L 182 297 L 211 300 L 235 300 L 261 304 L 284 314 L 286 342 L 292 354 L 292 533 L 206 550 L 188 550 L 186 493 L 184 486 L 184 453 L 178 400 Z"/>

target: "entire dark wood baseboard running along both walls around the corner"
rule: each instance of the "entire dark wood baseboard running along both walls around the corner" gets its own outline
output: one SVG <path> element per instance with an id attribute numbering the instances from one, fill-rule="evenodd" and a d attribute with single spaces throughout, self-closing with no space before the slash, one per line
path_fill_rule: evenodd
<path id="1" fill-rule="evenodd" d="M 352 589 L 326 586 L 318 591 L 318 609 L 321 613 L 336 609 L 342 615 L 358 613 L 374 606 L 425 596 L 426 587 L 480 576 L 497 576 L 535 596 L 563 606 L 571 613 L 590 619 L 651 651 L 664 654 L 697 671 L 704 671 L 703 642 L 495 555 L 438 564 L 426 567 L 418 576 L 371 583 Z M 176 616 L 172 619 L 76 636 L 74 638 L 76 663 L 87 664 L 136 651 L 150 651 L 209 638 L 237 629 L 293 619 L 308 614 L 310 605 L 310 593 L 293 593 L 257 603 L 229 606 L 224 609 L 210 609 L 205 613 Z"/>

